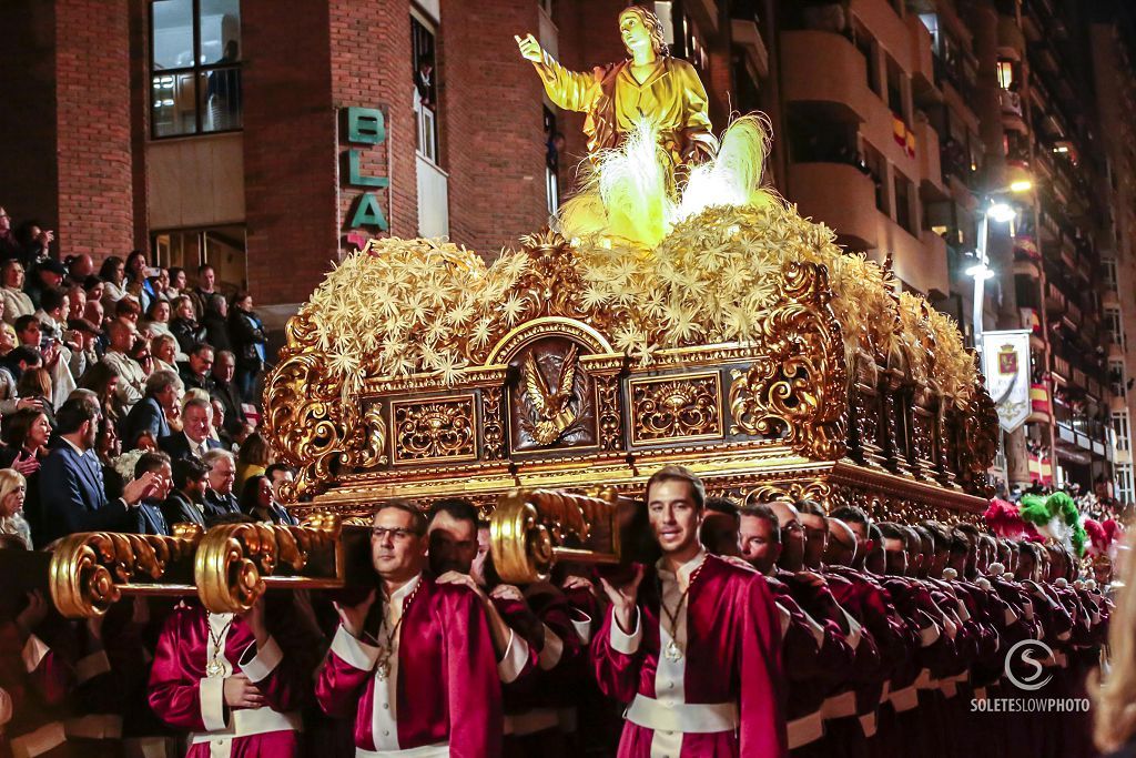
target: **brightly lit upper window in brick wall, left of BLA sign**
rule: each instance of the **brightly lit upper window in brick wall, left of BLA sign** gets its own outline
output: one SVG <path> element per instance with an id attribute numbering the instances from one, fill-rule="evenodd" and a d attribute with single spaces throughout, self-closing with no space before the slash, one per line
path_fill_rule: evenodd
<path id="1" fill-rule="evenodd" d="M 154 138 L 241 128 L 240 0 L 150 5 Z"/>

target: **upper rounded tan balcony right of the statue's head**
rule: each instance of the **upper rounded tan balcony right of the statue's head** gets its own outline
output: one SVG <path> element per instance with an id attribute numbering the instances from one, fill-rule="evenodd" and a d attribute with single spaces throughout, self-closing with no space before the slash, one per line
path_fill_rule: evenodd
<path id="1" fill-rule="evenodd" d="M 788 102 L 810 103 L 818 114 L 859 124 L 871 113 L 867 61 L 846 38 L 802 30 L 782 34 L 780 70 Z"/>

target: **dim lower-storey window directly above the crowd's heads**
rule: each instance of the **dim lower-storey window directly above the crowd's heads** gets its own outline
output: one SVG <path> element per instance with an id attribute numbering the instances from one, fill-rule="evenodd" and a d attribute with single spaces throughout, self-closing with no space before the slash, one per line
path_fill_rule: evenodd
<path id="1" fill-rule="evenodd" d="M 244 227 L 241 225 L 154 232 L 151 242 L 154 265 L 184 268 L 190 282 L 195 281 L 198 266 L 209 264 L 224 292 L 248 286 Z"/>

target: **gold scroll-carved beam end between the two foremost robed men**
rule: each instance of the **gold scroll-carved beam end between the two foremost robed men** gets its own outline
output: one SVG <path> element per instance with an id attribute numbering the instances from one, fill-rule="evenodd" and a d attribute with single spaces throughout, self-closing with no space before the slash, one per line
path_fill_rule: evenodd
<path id="1" fill-rule="evenodd" d="M 557 559 L 618 563 L 618 494 L 512 490 L 490 519 L 493 566 L 507 582 L 548 580 Z"/>

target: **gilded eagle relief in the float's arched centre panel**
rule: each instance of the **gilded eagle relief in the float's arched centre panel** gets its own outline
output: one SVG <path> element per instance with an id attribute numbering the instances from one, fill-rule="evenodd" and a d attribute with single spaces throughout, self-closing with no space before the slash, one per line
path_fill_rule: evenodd
<path id="1" fill-rule="evenodd" d="M 580 368 L 577 344 L 544 340 L 518 356 L 515 365 L 515 450 L 595 443 L 591 382 Z"/>

